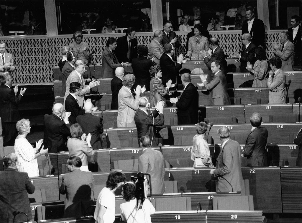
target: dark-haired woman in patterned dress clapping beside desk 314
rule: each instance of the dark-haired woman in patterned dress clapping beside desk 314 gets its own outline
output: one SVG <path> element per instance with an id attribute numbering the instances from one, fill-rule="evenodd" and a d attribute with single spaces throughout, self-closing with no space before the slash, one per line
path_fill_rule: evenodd
<path id="1" fill-rule="evenodd" d="M 256 62 L 252 67 L 250 62 L 247 62 L 246 69 L 254 76 L 253 88 L 266 88 L 268 79 L 268 63 L 266 61 L 265 51 L 257 48 L 255 50 Z"/>

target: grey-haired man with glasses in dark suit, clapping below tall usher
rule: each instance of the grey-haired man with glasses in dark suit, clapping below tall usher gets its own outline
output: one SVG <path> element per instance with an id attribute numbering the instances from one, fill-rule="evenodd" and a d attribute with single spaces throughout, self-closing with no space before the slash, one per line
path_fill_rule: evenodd
<path id="1" fill-rule="evenodd" d="M 234 53 L 234 58 L 238 58 L 240 61 L 240 72 L 249 73 L 249 71 L 246 69 L 247 62 L 250 62 L 251 65 L 256 61 L 255 58 L 255 50 L 256 46 L 251 42 L 251 35 L 248 33 L 242 34 L 241 41 L 244 45 L 241 54 L 240 53 Z"/>

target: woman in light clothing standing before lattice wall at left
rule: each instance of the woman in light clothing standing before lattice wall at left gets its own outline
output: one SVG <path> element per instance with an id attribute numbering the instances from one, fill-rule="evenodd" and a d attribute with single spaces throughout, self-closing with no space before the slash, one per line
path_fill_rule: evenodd
<path id="1" fill-rule="evenodd" d="M 79 60 L 82 60 L 85 64 L 88 64 L 89 47 L 86 42 L 83 42 L 82 32 L 76 31 L 72 35 L 72 39 L 74 41 L 69 45 L 70 47 L 72 47 L 72 51 L 74 51 L 78 55 Z"/>

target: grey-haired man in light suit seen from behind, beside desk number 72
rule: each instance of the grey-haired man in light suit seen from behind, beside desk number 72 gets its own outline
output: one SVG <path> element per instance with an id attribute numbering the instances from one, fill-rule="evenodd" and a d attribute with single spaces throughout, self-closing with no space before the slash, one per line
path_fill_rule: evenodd
<path id="1" fill-rule="evenodd" d="M 222 149 L 217 157 L 216 168 L 210 175 L 217 176 L 216 192 L 239 192 L 243 183 L 241 155 L 238 142 L 230 139 L 230 130 L 223 126 L 217 130 Z"/>

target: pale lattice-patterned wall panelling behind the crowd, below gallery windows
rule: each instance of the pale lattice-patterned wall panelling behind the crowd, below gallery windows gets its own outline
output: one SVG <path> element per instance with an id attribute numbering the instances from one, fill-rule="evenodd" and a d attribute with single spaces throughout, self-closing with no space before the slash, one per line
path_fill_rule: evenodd
<path id="1" fill-rule="evenodd" d="M 113 34 L 114 35 L 114 34 Z M 120 34 L 115 34 L 120 36 Z M 178 40 L 181 46 L 177 53 L 184 53 L 187 41 L 187 33 L 178 32 Z M 228 55 L 238 52 L 241 46 L 241 34 L 239 33 L 213 33 L 218 38 L 220 46 Z M 153 33 L 137 33 L 138 44 L 149 45 Z M 101 64 L 101 54 L 106 46 L 108 35 L 84 36 L 84 41 L 90 46 L 90 51 L 96 50 L 93 63 Z M 273 56 L 272 43 L 279 42 L 279 33 L 266 34 L 266 52 L 268 58 Z M 50 83 L 53 82 L 53 66 L 57 66 L 61 59 L 62 46 L 72 43 L 71 37 L 41 37 L 35 39 L 8 39 L 7 51 L 15 57 L 16 72 L 15 83 Z"/>

